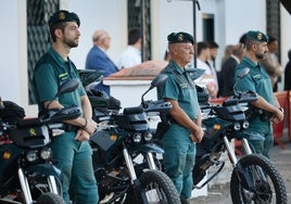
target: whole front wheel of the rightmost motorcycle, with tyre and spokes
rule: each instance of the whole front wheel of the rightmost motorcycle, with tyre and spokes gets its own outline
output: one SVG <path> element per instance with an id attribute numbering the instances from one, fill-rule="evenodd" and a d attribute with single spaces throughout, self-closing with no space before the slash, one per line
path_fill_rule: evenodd
<path id="1" fill-rule="evenodd" d="M 258 154 L 245 155 L 239 161 L 231 175 L 230 194 L 236 204 L 287 204 L 281 175 L 268 158 Z"/>

